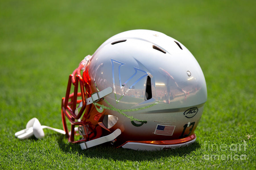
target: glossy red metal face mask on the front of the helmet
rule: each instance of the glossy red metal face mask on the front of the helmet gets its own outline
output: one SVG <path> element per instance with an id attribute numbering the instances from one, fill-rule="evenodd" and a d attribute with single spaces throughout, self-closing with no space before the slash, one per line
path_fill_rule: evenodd
<path id="1" fill-rule="evenodd" d="M 80 74 L 81 70 L 85 69 L 85 66 L 88 62 L 88 60 L 91 58 L 90 55 L 86 56 L 85 59 L 83 59 L 78 68 L 74 70 L 73 74 L 69 76 L 68 79 L 68 86 L 65 97 L 62 97 L 61 102 L 61 116 L 62 116 L 62 124 L 63 128 L 66 132 L 66 136 L 68 137 L 68 141 L 71 143 L 78 143 L 82 141 L 86 141 L 89 139 L 88 134 L 83 135 L 85 139 L 80 139 L 77 141 L 74 141 L 74 135 L 77 134 L 75 131 L 75 125 L 84 126 L 86 125 L 83 121 L 76 121 L 81 118 L 81 116 L 84 113 L 83 117 L 87 117 L 88 113 L 91 109 L 91 104 L 86 106 L 86 98 L 91 97 L 92 91 L 91 86 L 89 85 L 89 79 L 86 79 L 85 72 L 83 73 L 83 78 Z M 71 90 L 71 84 L 74 85 L 74 92 L 70 94 Z M 80 91 L 78 92 L 78 86 L 80 86 Z M 77 100 L 77 97 L 81 97 L 81 100 Z M 77 109 L 77 104 L 82 102 L 82 107 L 78 114 L 75 113 L 75 110 Z M 68 131 L 67 124 L 66 124 L 66 117 L 71 123 L 71 131 Z"/>

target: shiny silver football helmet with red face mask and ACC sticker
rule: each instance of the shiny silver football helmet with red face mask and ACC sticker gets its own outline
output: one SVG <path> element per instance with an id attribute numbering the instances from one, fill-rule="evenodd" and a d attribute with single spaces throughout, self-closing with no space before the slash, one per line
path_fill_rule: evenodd
<path id="1" fill-rule="evenodd" d="M 61 114 L 69 142 L 82 149 L 109 142 L 152 151 L 194 142 L 206 100 L 203 72 L 182 43 L 130 30 L 81 61 L 69 76 Z"/>

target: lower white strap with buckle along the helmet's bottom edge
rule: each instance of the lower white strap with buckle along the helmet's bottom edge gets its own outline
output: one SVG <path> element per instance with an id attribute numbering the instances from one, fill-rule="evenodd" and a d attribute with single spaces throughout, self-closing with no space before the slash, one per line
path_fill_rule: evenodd
<path id="1" fill-rule="evenodd" d="M 103 137 L 100 137 L 100 138 L 97 138 L 94 140 L 90 140 L 88 142 L 81 142 L 80 143 L 81 149 L 83 150 L 83 149 L 91 148 L 96 145 L 100 145 L 105 142 L 110 142 L 111 140 L 114 140 L 115 138 L 117 138 L 120 134 L 121 134 L 121 130 L 117 129 L 113 133 L 111 133 L 107 136 L 103 136 Z"/>

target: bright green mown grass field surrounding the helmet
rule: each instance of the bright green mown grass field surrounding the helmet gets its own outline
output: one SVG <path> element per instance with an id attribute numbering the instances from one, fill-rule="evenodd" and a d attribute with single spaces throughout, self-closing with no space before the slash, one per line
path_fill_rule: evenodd
<path id="1" fill-rule="evenodd" d="M 1 0 L 0 169 L 256 169 L 255 6 L 255 0 Z M 33 117 L 62 129 L 68 75 L 106 39 L 133 29 L 179 40 L 200 64 L 208 101 L 195 143 L 154 152 L 81 151 L 49 130 L 41 140 L 15 138 Z"/>

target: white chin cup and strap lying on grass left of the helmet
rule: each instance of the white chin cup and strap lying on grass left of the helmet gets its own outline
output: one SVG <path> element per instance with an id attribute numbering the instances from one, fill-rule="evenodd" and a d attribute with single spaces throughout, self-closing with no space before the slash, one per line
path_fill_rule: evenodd
<path id="1" fill-rule="evenodd" d="M 61 134 L 66 134 L 64 130 L 55 129 L 48 126 L 42 126 L 38 119 L 33 118 L 27 122 L 26 129 L 15 133 L 15 137 L 17 137 L 18 139 L 27 139 L 35 135 L 37 139 L 42 139 L 44 137 L 44 130 L 43 130 L 44 128 L 54 130 Z"/>

